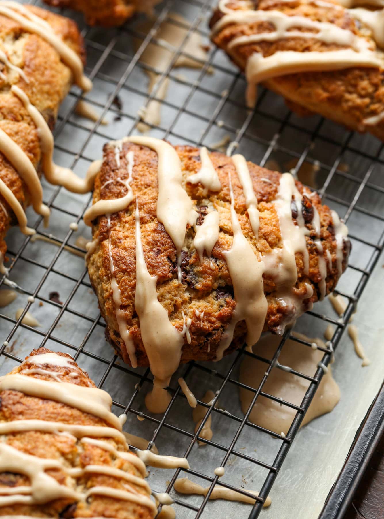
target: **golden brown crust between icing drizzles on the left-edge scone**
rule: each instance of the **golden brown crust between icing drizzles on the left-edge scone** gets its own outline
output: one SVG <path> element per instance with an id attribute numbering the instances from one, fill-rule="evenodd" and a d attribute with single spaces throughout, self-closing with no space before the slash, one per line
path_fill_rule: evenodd
<path id="1" fill-rule="evenodd" d="M 75 50 L 84 61 L 83 39 L 75 22 L 55 15 L 45 9 L 26 6 L 46 20 L 65 43 Z M 23 103 L 9 89 L 17 85 L 28 95 L 51 129 L 54 126 L 58 107 L 72 84 L 72 73 L 61 61 L 60 55 L 46 40 L 23 30 L 20 25 L 5 16 L 0 16 L 0 49 L 4 50 L 12 64 L 24 71 L 28 83 L 0 62 L 0 129 L 15 141 L 39 172 L 40 143 L 36 126 Z M 0 179 L 25 208 L 29 204 L 29 193 L 25 183 L 5 156 L 0 153 Z M 5 235 L 10 225 L 17 224 L 8 203 L 0 195 L 0 202 L 7 214 L 0 210 L 0 253 L 6 252 Z"/>

